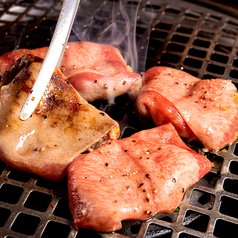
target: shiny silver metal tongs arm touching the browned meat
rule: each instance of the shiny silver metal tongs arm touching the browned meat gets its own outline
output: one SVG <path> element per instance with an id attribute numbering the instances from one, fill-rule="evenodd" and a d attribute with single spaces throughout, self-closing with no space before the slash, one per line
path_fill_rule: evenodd
<path id="1" fill-rule="evenodd" d="M 27 120 L 37 107 L 56 66 L 60 66 L 80 0 L 64 0 L 57 25 L 36 81 L 23 105 L 19 118 Z"/>

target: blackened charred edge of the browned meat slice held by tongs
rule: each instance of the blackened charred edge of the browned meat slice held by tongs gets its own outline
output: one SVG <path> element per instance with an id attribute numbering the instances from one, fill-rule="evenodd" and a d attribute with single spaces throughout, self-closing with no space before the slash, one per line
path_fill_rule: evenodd
<path id="1" fill-rule="evenodd" d="M 33 56 L 33 55 L 24 55 L 18 59 L 10 68 L 8 68 L 5 73 L 2 75 L 0 81 L 0 88 L 3 85 L 7 85 L 12 82 L 15 76 L 24 68 L 28 67 L 32 62 L 42 62 L 43 59 Z"/>

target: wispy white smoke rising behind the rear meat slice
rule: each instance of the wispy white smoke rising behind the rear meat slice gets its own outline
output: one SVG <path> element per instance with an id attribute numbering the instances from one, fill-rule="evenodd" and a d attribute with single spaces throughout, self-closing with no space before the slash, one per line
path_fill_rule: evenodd
<path id="1" fill-rule="evenodd" d="M 142 1 L 81 1 L 72 28 L 74 35 L 70 37 L 70 40 L 115 46 L 134 72 L 143 71 L 148 40 L 138 41 L 136 33 L 138 20 L 141 20 L 139 10 L 143 7 Z M 147 29 L 150 27 L 151 18 L 143 21 Z M 149 30 L 143 33 L 142 38 L 148 37 Z M 141 52 L 140 55 L 139 52 Z M 138 67 L 138 60 L 142 67 Z"/>

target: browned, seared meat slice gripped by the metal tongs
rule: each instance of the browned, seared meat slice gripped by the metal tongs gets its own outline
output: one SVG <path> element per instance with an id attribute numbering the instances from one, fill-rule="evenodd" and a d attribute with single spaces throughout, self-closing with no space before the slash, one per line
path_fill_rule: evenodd
<path id="1" fill-rule="evenodd" d="M 103 140 L 119 136 L 119 126 L 85 101 L 56 68 L 32 116 L 19 119 L 42 59 L 25 55 L 3 75 L 0 91 L 0 158 L 14 168 L 60 181 L 68 164 Z M 7 78 L 7 79 L 6 79 Z"/>

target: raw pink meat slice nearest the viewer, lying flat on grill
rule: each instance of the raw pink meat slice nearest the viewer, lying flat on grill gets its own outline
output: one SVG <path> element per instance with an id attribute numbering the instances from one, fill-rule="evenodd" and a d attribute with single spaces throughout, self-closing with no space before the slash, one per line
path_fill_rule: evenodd
<path id="1" fill-rule="evenodd" d="M 68 197 L 76 227 L 110 232 L 122 220 L 172 213 L 186 189 L 211 169 L 172 124 L 114 140 L 68 167 Z"/>

